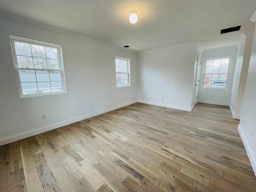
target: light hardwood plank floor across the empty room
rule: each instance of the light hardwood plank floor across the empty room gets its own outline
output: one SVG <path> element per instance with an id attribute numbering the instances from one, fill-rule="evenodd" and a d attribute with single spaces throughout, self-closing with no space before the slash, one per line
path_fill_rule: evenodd
<path id="1" fill-rule="evenodd" d="M 256 192 L 225 106 L 130 106 L 0 147 L 1 192 Z"/>

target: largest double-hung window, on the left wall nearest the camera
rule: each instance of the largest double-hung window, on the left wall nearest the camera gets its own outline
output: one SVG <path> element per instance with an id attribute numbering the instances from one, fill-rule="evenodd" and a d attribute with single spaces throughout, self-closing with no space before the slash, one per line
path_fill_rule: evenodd
<path id="1" fill-rule="evenodd" d="M 10 36 L 20 97 L 65 93 L 61 46 Z"/>

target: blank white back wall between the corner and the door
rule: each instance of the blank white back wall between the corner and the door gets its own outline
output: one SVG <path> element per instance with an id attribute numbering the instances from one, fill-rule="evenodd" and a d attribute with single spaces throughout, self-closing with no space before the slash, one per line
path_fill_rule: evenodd
<path id="1" fill-rule="evenodd" d="M 197 45 L 192 42 L 140 52 L 138 102 L 191 111 Z"/>

